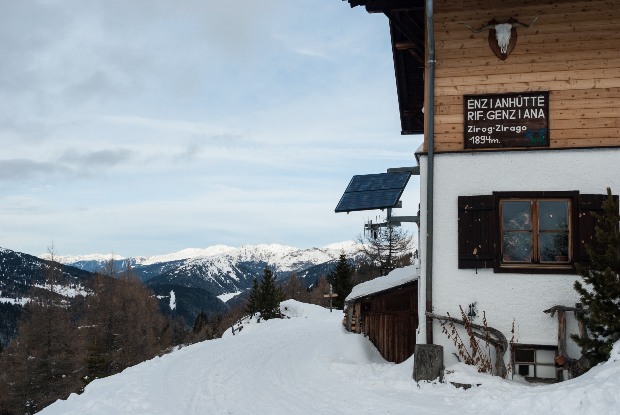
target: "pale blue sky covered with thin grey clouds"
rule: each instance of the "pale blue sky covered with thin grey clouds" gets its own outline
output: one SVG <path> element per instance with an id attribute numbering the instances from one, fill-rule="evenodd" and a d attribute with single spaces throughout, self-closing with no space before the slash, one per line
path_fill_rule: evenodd
<path id="1" fill-rule="evenodd" d="M 1 247 L 322 247 L 381 214 L 334 213 L 352 175 L 415 165 L 384 15 L 340 0 L 0 4 Z M 399 214 L 417 212 L 418 186 Z"/>

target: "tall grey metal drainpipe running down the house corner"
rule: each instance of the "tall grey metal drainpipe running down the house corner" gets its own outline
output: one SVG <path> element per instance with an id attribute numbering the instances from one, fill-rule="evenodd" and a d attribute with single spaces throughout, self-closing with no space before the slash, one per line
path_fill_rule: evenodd
<path id="1" fill-rule="evenodd" d="M 427 2 L 428 33 L 428 108 L 427 108 L 427 264 L 426 310 L 433 312 L 433 153 L 435 152 L 435 27 L 433 26 L 433 0 Z M 433 344 L 433 319 L 427 316 L 427 344 Z"/>

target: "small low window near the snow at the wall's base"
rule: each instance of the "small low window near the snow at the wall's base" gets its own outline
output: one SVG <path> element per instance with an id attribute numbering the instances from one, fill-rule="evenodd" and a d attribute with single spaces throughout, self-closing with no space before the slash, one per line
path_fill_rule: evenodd
<path id="1" fill-rule="evenodd" d="M 549 346 L 528 346 L 514 349 L 515 373 L 526 378 L 529 382 L 556 382 L 557 350 Z"/>

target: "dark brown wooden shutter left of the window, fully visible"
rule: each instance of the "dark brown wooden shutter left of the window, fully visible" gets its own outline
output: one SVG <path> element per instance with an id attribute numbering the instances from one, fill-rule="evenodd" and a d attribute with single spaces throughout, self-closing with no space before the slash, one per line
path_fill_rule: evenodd
<path id="1" fill-rule="evenodd" d="M 459 268 L 494 268 L 494 196 L 459 196 L 458 207 Z"/>

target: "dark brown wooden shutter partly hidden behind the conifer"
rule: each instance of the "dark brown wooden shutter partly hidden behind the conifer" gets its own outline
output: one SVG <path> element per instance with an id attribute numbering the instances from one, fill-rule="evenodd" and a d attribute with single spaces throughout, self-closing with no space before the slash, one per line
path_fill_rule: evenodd
<path id="1" fill-rule="evenodd" d="M 614 196 L 618 198 L 618 196 Z M 596 226 L 601 224 L 592 216 L 592 212 L 603 215 L 603 200 L 607 198 L 606 194 L 580 194 L 579 195 L 579 216 L 577 219 L 578 245 L 575 250 L 575 262 L 588 268 L 593 268 L 590 261 L 590 255 L 585 251 L 585 245 L 590 245 L 595 250 L 604 252 L 606 247 L 596 240 Z"/>

